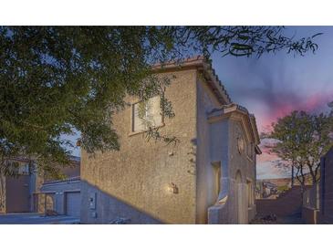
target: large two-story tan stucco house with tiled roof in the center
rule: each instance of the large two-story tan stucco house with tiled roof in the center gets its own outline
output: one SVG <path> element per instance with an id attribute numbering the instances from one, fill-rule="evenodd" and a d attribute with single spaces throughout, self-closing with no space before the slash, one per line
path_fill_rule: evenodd
<path id="1" fill-rule="evenodd" d="M 81 151 L 81 222 L 85 224 L 247 224 L 255 216 L 255 117 L 234 104 L 203 57 L 168 64 L 166 90 L 175 117 L 161 115 L 160 98 L 128 97 L 114 115 L 120 151 Z M 174 145 L 147 141 L 139 109 Z"/>

